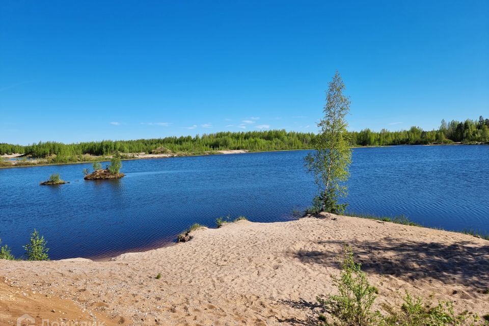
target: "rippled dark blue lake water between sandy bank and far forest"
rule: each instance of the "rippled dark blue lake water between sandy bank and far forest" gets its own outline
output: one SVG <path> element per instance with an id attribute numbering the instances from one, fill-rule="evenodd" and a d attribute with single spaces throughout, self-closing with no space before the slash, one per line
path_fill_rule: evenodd
<path id="1" fill-rule="evenodd" d="M 90 164 L 0 169 L 0 238 L 21 256 L 37 228 L 51 259 L 101 258 L 162 246 L 228 214 L 292 220 L 317 190 L 306 154 L 129 160 L 124 178 L 104 181 L 83 180 Z M 350 172 L 348 211 L 489 232 L 489 146 L 356 148 Z M 40 186 L 51 173 L 70 183 Z"/>

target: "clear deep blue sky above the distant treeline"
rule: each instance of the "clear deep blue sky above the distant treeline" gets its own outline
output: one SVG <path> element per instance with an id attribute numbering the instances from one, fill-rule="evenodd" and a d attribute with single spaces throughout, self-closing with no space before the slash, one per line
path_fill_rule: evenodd
<path id="1" fill-rule="evenodd" d="M 0 142 L 489 117 L 489 2 L 0 2 Z"/>

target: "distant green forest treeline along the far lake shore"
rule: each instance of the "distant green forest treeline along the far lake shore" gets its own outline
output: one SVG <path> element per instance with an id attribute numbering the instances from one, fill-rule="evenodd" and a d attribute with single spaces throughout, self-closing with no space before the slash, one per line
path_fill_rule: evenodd
<path id="1" fill-rule="evenodd" d="M 489 141 L 489 119 L 482 116 L 478 120 L 442 120 L 438 130 L 425 131 L 419 127 L 409 130 L 351 131 L 351 146 L 420 145 L 449 144 L 453 142 L 475 143 Z M 80 156 L 97 156 L 119 153 L 173 153 L 198 154 L 225 149 L 249 151 L 309 149 L 315 133 L 285 130 L 264 130 L 246 132 L 216 132 L 210 134 L 158 139 L 129 141 L 100 141 L 63 144 L 58 142 L 39 142 L 22 146 L 0 143 L 0 154 L 22 153 L 33 157 L 56 156 L 59 162 L 77 161 Z"/>

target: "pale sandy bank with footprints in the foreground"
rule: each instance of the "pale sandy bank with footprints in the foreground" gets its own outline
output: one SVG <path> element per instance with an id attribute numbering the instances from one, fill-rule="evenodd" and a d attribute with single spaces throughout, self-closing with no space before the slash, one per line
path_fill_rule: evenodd
<path id="1" fill-rule="evenodd" d="M 88 313 L 106 325 L 315 324 L 316 295 L 335 291 L 345 243 L 378 287 L 379 309 L 408 290 L 455 301 L 457 312 L 489 313 L 489 241 L 470 235 L 334 215 L 193 235 L 106 262 L 1 260 L 0 324 L 20 313 Z"/>

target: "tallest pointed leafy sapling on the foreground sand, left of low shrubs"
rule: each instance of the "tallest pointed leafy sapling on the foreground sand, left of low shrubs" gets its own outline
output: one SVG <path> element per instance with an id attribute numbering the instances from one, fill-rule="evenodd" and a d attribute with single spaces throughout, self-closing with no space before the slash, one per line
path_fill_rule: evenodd
<path id="1" fill-rule="evenodd" d="M 371 310 L 377 297 L 377 289 L 369 284 L 361 264 L 354 261 L 348 246 L 344 247 L 341 275 L 339 278 L 333 276 L 333 283 L 339 294 L 317 298 L 325 313 L 333 319 L 333 325 L 368 326 L 378 322 L 380 313 Z M 322 319 L 327 320 L 325 316 Z M 320 324 L 330 325 L 327 321 Z"/>

